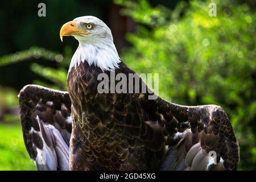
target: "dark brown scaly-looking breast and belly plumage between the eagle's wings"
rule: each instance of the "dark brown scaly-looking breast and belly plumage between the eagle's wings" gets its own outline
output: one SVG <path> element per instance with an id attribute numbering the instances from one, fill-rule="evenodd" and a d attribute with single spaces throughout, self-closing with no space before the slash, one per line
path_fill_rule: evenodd
<path id="1" fill-rule="evenodd" d="M 134 73 L 123 63 L 113 72 Z M 78 146 L 72 148 L 71 161 L 83 162 L 74 162 L 72 169 L 157 169 L 165 149 L 162 131 L 147 124 L 139 93 L 98 93 L 100 73 L 85 61 L 68 75 L 77 136 L 71 142 Z M 104 73 L 110 77 L 110 71 Z"/>

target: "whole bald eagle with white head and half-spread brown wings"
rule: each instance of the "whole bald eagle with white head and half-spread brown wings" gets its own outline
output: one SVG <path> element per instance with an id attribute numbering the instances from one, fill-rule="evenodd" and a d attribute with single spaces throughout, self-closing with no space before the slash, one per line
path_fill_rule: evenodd
<path id="1" fill-rule="evenodd" d="M 19 93 L 24 143 L 39 170 L 236 169 L 238 142 L 220 106 L 150 100 L 154 93 L 141 90 L 99 93 L 101 73 L 135 72 L 119 58 L 112 32 L 100 19 L 65 23 L 61 41 L 69 35 L 79 47 L 68 92 L 26 85 Z"/>

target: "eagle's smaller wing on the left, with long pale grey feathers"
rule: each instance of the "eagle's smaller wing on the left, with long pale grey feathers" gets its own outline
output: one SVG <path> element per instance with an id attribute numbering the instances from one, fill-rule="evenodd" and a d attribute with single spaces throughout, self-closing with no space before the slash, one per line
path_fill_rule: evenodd
<path id="1" fill-rule="evenodd" d="M 24 142 L 39 170 L 69 170 L 72 130 L 68 92 L 26 85 L 19 93 Z"/>

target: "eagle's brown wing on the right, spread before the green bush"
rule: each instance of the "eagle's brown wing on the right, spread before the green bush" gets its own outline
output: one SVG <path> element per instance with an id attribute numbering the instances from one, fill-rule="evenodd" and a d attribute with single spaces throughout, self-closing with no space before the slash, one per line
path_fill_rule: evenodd
<path id="1" fill-rule="evenodd" d="M 163 170 L 234 170 L 240 160 L 232 125 L 220 106 L 181 106 L 158 97 L 144 107 L 164 123 Z"/>

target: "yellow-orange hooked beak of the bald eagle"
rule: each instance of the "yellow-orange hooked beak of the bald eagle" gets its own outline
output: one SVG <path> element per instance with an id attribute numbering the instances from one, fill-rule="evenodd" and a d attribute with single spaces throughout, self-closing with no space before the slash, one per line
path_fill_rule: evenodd
<path id="1" fill-rule="evenodd" d="M 76 34 L 88 35 L 90 33 L 77 28 L 76 22 L 73 22 L 73 21 L 63 24 L 63 26 L 60 28 L 61 42 L 63 42 L 63 36 L 76 35 Z"/>

